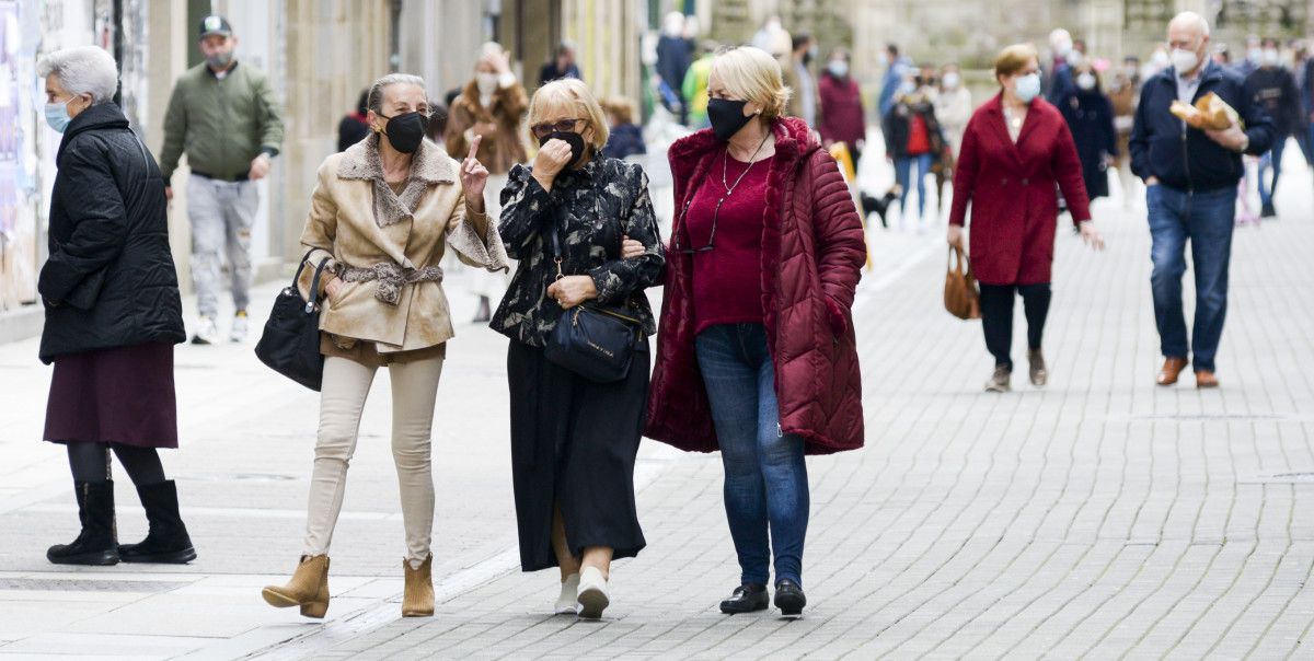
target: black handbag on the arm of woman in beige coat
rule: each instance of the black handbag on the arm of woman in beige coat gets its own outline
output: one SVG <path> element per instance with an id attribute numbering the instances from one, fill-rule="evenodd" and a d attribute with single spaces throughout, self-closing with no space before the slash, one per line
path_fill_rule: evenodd
<path id="1" fill-rule="evenodd" d="M 325 357 L 319 353 L 319 276 L 323 275 L 328 258 L 319 262 L 315 277 L 310 283 L 310 300 L 301 297 L 297 281 L 301 269 L 306 268 L 306 256 L 292 276 L 292 285 L 279 292 L 273 300 L 269 321 L 255 346 L 255 355 L 275 372 L 319 392 L 323 382 Z"/>

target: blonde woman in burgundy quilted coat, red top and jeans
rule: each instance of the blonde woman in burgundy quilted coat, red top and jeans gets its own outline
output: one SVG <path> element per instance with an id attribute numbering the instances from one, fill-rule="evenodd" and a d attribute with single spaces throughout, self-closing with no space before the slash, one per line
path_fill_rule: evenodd
<path id="1" fill-rule="evenodd" d="M 834 159 L 781 117 L 779 64 L 714 60 L 711 130 L 670 148 L 677 214 L 645 434 L 721 451 L 740 586 L 721 612 L 802 612 L 805 453 L 862 447 L 850 308 L 866 255 Z M 770 536 L 769 536 L 770 534 Z M 773 553 L 774 552 L 774 553 Z"/>

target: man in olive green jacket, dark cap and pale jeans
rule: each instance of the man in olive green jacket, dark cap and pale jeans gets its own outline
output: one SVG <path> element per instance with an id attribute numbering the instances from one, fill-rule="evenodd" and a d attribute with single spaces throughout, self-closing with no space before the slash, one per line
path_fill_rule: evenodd
<path id="1" fill-rule="evenodd" d="M 193 344 L 218 340 L 221 252 L 226 254 L 237 314 L 229 335 L 247 335 L 251 286 L 251 226 L 260 206 L 256 181 L 283 145 L 283 109 L 264 74 L 233 57 L 238 38 L 221 16 L 201 21 L 205 63 L 177 79 L 164 114 L 160 170 L 168 196 L 179 158 L 187 154 L 187 216 L 192 223 L 192 284 L 200 327 Z"/>

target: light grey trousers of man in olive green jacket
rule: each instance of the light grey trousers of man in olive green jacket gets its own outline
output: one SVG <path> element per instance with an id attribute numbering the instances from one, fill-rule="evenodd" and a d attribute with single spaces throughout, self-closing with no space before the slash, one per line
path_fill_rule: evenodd
<path id="1" fill-rule="evenodd" d="M 260 208 L 255 181 L 219 181 L 192 175 L 187 181 L 187 216 L 192 222 L 192 285 L 201 317 L 219 313 L 222 262 L 229 263 L 233 306 L 251 302 L 251 226 Z"/>

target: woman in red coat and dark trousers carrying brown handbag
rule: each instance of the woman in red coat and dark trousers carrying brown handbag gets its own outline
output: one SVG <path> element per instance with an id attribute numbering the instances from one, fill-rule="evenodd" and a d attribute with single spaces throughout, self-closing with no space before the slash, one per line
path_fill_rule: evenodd
<path id="1" fill-rule="evenodd" d="M 1041 335 L 1050 308 L 1050 264 L 1058 225 L 1058 189 L 1063 191 L 1081 239 L 1095 248 L 1104 240 L 1091 222 L 1081 183 L 1081 162 L 1067 122 L 1039 97 L 1035 49 L 1016 45 L 995 60 L 1000 93 L 976 109 L 963 134 L 954 173 L 949 243 L 962 247 L 967 205 L 972 205 L 971 259 L 980 283 L 982 329 L 995 356 L 989 392 L 1007 392 L 1013 373 L 1013 297 L 1026 310 L 1026 346 L 1031 384 L 1049 378 Z M 1058 184 L 1058 185 L 1055 185 Z"/>

